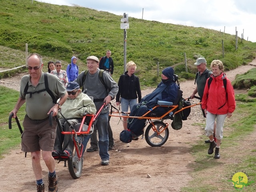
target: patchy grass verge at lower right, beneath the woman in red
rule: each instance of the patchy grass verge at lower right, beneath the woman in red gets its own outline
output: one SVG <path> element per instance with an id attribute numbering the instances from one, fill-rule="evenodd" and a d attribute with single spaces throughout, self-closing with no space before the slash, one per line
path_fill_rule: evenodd
<path id="1" fill-rule="evenodd" d="M 240 102 L 237 100 L 236 110 L 233 113 L 233 123 L 224 124 L 224 139 L 221 144 L 221 158 L 226 161 L 216 160 L 213 155 L 208 155 L 209 145 L 204 144 L 205 138 L 198 140 L 192 147 L 192 154 L 195 162 L 190 164 L 190 172 L 193 180 L 188 186 L 182 188 L 184 192 L 229 192 L 235 191 L 232 186 L 232 176 L 235 172 L 246 172 L 248 183 L 256 182 L 256 150 L 244 148 L 247 143 L 246 138 L 256 131 L 255 102 Z M 223 152 L 225 151 L 225 152 Z M 255 184 L 243 188 L 243 191 L 253 192 Z"/>

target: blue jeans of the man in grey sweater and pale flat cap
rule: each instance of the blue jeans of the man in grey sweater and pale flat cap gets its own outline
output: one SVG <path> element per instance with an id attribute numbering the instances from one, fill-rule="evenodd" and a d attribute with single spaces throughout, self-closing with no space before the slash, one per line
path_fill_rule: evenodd
<path id="1" fill-rule="evenodd" d="M 109 160 L 108 153 L 108 114 L 106 112 L 104 114 L 100 114 L 97 118 L 97 122 L 94 125 L 94 129 L 98 131 L 98 146 L 99 146 L 99 154 L 102 160 Z"/>

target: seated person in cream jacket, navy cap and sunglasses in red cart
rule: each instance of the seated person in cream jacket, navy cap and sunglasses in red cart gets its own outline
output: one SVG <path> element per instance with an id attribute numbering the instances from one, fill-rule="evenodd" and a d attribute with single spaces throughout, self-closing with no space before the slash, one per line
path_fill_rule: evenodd
<path id="1" fill-rule="evenodd" d="M 69 82 L 66 90 L 68 92 L 68 98 L 61 106 L 62 115 L 68 120 L 68 122 L 74 126 L 75 124 L 81 123 L 83 114 L 85 112 L 89 114 L 96 113 L 96 107 L 92 99 L 81 92 L 79 84 L 77 82 Z M 59 118 L 60 125 L 64 132 L 70 132 L 71 128 L 68 123 L 61 116 Z M 70 157 L 72 155 L 72 134 L 61 134 L 60 128 L 57 126 L 57 136 L 54 144 L 54 151 L 52 152 L 53 157 Z M 90 139 L 90 135 L 84 136 L 84 150 L 87 142 Z M 65 149 L 63 149 L 66 147 Z M 83 153 L 84 153 L 83 150 Z"/>

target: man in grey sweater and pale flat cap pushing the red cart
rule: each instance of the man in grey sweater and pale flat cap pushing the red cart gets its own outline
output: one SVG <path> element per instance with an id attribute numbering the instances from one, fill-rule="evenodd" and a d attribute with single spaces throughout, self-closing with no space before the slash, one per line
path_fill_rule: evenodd
<path id="1" fill-rule="evenodd" d="M 118 85 L 112 79 L 110 74 L 103 72 L 102 78 L 104 80 L 104 84 L 108 88 L 106 89 L 99 76 L 99 59 L 96 56 L 89 56 L 86 60 L 89 72 L 86 76 L 85 71 L 81 72 L 78 75 L 76 82 L 78 82 L 80 87 L 83 86 L 84 90 L 87 89 L 86 94 L 93 97 L 96 109 L 99 110 L 102 104 L 105 103 L 105 106 L 108 106 L 110 101 L 114 99 L 118 92 Z M 98 116 L 95 124 L 95 129 L 98 131 L 98 146 L 102 165 L 108 165 L 110 157 L 108 153 L 108 114 L 109 109 L 104 108 Z"/>

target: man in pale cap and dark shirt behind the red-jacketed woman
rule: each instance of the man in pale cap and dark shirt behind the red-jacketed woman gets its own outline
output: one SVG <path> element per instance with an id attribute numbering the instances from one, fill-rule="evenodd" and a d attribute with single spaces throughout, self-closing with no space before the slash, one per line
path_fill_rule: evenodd
<path id="1" fill-rule="evenodd" d="M 206 60 L 205 58 L 198 58 L 196 62 L 194 63 L 196 65 L 198 72 L 196 73 L 196 79 L 195 84 L 196 88 L 194 89 L 192 95 L 190 96 L 191 99 L 194 98 L 195 94 L 198 93 L 200 99 L 200 102 L 202 101 L 203 94 L 204 94 L 204 87 L 206 84 L 206 80 L 210 77 L 212 74 L 212 71 L 207 69 L 206 67 Z M 205 116 L 204 110 L 202 110 L 203 116 Z M 215 138 L 215 130 L 216 130 L 216 122 L 214 123 L 214 138 Z M 210 140 L 206 140 L 205 143 L 210 143 Z"/>

